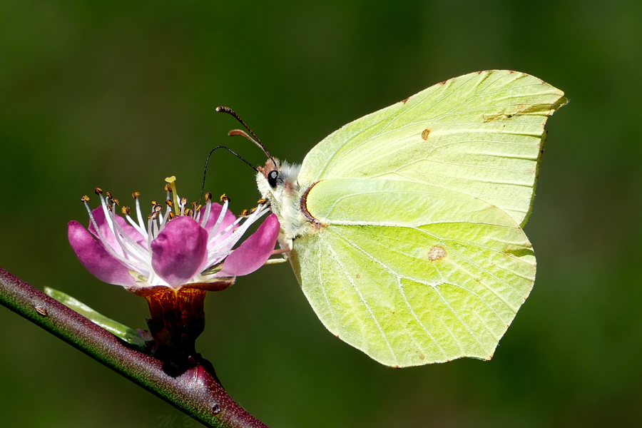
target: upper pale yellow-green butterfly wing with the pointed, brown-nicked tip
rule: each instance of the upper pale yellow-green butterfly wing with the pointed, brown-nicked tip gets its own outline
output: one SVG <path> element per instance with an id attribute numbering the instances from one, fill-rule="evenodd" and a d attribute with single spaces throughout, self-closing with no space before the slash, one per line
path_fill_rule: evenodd
<path id="1" fill-rule="evenodd" d="M 524 225 L 544 124 L 565 103 L 559 89 L 515 71 L 452 78 L 332 133 L 305 157 L 299 183 L 370 177 L 437 185 Z"/>

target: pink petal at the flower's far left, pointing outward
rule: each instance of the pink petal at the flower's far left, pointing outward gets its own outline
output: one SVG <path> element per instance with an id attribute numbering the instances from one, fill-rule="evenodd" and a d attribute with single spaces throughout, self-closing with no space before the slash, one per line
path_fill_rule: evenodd
<path id="1" fill-rule="evenodd" d="M 107 253 L 103 245 L 75 220 L 69 222 L 68 237 L 73 252 L 91 275 L 109 284 L 136 285 L 127 267 Z"/>

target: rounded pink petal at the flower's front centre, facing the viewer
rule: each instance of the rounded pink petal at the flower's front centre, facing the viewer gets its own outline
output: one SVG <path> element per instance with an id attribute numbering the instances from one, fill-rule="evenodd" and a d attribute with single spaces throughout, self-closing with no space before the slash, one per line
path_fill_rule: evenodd
<path id="1" fill-rule="evenodd" d="M 184 285 L 205 265 L 207 245 L 207 230 L 193 218 L 174 218 L 151 243 L 152 267 L 169 285 Z"/>

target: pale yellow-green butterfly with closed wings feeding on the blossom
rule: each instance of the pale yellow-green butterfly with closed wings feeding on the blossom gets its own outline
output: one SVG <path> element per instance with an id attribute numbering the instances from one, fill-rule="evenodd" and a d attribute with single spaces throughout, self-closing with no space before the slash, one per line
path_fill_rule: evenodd
<path id="1" fill-rule="evenodd" d="M 264 148 L 258 189 L 327 330 L 391 367 L 490 360 L 534 284 L 522 227 L 566 102 L 478 71 L 348 123 L 301 165 Z"/>

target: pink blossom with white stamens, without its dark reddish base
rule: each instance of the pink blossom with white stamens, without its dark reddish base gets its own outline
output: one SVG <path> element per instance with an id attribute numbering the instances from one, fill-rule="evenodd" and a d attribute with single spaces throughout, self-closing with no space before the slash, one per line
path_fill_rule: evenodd
<path id="1" fill-rule="evenodd" d="M 261 267 L 275 248 L 280 224 L 274 214 L 238 248 L 233 246 L 246 230 L 269 211 L 258 205 L 248 215 L 236 218 L 228 210 L 229 198 L 223 205 L 212 203 L 208 193 L 204 207 L 179 198 L 175 178 L 167 178 L 167 208 L 153 205 L 147 224 L 143 221 L 138 193 L 136 217 L 129 208 L 116 215 L 118 200 L 96 189 L 101 206 L 93 211 L 83 197 L 89 213 L 88 230 L 77 221 L 68 225 L 71 248 L 83 266 L 99 280 L 123 285 L 132 292 L 158 286 L 178 289 L 183 286 L 215 290 L 233 283 L 234 277 L 248 275 Z M 243 221 L 245 220 L 245 221 Z"/>

